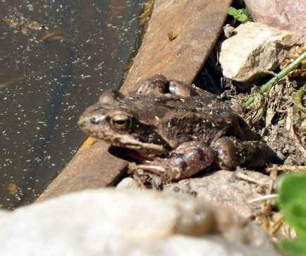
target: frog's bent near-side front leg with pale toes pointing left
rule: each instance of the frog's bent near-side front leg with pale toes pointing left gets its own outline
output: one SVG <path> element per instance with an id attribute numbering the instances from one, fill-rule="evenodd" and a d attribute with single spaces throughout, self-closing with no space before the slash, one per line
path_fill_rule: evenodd
<path id="1" fill-rule="evenodd" d="M 167 158 L 137 165 L 135 169 L 143 169 L 169 177 L 171 180 L 178 180 L 206 169 L 215 159 L 216 152 L 213 148 L 191 141 L 180 144 Z"/>

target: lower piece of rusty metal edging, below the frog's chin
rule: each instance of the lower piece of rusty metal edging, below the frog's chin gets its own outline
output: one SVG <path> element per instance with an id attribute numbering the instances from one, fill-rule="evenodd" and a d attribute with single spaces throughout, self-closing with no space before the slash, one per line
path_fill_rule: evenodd
<path id="1" fill-rule="evenodd" d="M 109 153 L 104 141 L 96 141 L 72 158 L 36 202 L 86 188 L 114 185 L 126 167 L 126 160 Z"/>

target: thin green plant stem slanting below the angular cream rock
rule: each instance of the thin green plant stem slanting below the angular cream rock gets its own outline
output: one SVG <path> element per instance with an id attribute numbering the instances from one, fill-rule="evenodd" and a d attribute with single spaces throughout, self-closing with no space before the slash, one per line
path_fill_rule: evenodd
<path id="1" fill-rule="evenodd" d="M 271 84 L 273 84 L 274 82 L 278 82 L 280 79 L 288 75 L 288 73 L 291 70 L 294 70 L 302 62 L 302 60 L 305 60 L 305 58 L 306 58 L 306 51 L 305 53 L 302 53 L 302 55 L 300 55 L 297 59 L 295 59 L 292 63 L 290 63 L 286 68 L 281 70 L 279 74 L 277 74 L 275 77 L 270 79 L 266 84 L 262 85 L 262 87 L 260 87 L 260 92 L 264 93 L 268 91 L 269 87 L 271 87 Z M 254 101 L 255 101 L 255 96 L 254 95 L 250 96 L 250 98 L 248 98 L 247 101 L 245 101 L 245 107 L 251 105 Z"/>

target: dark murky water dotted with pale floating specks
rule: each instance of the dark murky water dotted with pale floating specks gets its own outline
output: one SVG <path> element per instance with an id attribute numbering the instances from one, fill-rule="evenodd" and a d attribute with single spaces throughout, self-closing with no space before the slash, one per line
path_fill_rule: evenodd
<path id="1" fill-rule="evenodd" d="M 120 84 L 141 4 L 0 0 L 1 207 L 34 200 L 84 141 L 78 117 Z"/>

